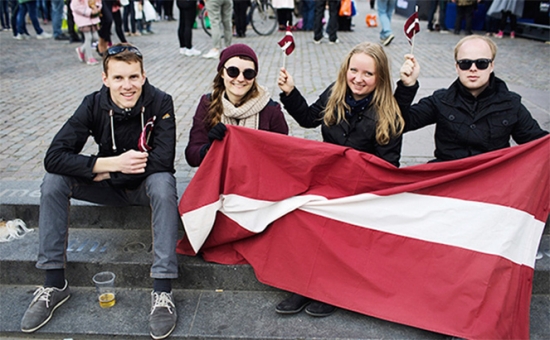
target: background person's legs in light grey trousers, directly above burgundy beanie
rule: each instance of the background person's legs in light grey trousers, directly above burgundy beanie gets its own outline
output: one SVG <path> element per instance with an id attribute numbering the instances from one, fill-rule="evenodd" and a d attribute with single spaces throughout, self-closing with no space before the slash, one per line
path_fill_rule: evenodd
<path id="1" fill-rule="evenodd" d="M 206 10 L 212 27 L 212 49 L 203 55 L 203 58 L 218 59 L 222 48 L 222 32 L 225 46 L 231 45 L 233 36 L 233 1 L 232 0 L 205 0 Z"/>

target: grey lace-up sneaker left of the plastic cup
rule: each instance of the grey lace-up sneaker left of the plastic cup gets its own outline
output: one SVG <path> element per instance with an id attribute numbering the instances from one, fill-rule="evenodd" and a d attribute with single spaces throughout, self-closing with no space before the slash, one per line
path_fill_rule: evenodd
<path id="1" fill-rule="evenodd" d="M 71 297 L 69 283 L 63 289 L 38 287 L 29 308 L 21 320 L 21 331 L 32 333 L 52 318 L 53 312 Z"/>

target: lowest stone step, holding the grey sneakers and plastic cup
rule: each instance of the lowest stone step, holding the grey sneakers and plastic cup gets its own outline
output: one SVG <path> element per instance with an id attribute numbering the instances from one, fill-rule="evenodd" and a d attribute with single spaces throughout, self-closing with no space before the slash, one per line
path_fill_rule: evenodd
<path id="1" fill-rule="evenodd" d="M 0 285 L 0 338 L 150 339 L 150 290 L 119 288 L 115 306 L 99 307 L 95 290 L 73 287 L 71 298 L 43 328 L 25 335 L 20 322 L 35 287 Z M 448 339 L 449 337 L 339 309 L 327 318 L 279 315 L 280 291 L 174 290 L 178 323 L 170 339 Z M 550 297 L 534 295 L 531 339 L 548 338 Z"/>

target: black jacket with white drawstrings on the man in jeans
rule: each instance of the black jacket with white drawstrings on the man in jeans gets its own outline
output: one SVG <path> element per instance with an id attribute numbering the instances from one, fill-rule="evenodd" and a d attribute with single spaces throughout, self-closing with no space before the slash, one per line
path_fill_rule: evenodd
<path id="1" fill-rule="evenodd" d="M 154 112 L 157 110 L 156 107 L 160 108 L 158 112 Z M 113 110 L 116 150 L 112 142 L 109 116 L 111 110 Z M 143 130 L 142 110 L 144 122 L 156 116 L 149 139 L 152 149 L 149 151 L 145 173 L 132 175 L 111 173 L 111 184 L 132 189 L 152 173 L 174 173 L 176 149 L 174 104 L 170 95 L 153 87 L 148 81 L 143 85 L 141 97 L 135 107 L 128 112 L 112 103 L 109 89 L 105 86 L 100 91 L 86 96 L 74 115 L 54 137 L 44 159 L 46 171 L 92 180 L 95 176 L 92 169 L 98 157 L 116 156 L 131 149 L 138 150 L 138 140 Z M 92 136 L 98 145 L 97 155 L 80 154 L 89 136 Z"/>

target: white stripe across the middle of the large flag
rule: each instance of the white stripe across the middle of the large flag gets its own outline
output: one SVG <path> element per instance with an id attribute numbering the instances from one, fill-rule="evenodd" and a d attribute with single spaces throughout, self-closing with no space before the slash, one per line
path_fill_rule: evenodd
<path id="1" fill-rule="evenodd" d="M 411 193 L 361 194 L 332 200 L 305 195 L 280 202 L 225 195 L 221 201 L 182 215 L 195 252 L 210 233 L 216 206 L 253 233 L 301 209 L 358 227 L 502 256 L 531 268 L 544 229 L 543 222 L 518 209 Z"/>

